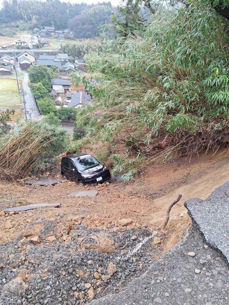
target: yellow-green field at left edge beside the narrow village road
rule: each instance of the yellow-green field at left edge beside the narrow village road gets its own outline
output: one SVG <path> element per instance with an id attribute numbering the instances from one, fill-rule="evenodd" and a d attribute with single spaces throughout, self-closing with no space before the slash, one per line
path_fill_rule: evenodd
<path id="1" fill-rule="evenodd" d="M 0 107 L 21 106 L 16 79 L 3 78 L 0 82 Z"/>

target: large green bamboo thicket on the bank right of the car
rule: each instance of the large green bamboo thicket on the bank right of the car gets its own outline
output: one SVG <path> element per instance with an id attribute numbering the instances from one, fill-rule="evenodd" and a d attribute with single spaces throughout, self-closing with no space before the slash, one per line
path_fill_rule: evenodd
<path id="1" fill-rule="evenodd" d="M 76 115 L 76 129 L 86 130 L 77 149 L 99 143 L 100 154 L 104 147 L 100 157 L 114 163 L 113 174 L 125 173 L 128 180 L 149 162 L 168 160 L 175 152 L 191 158 L 228 145 L 223 17 L 196 1 L 178 13 L 155 14 L 144 34 L 129 36 L 119 47 L 116 54 L 90 61 L 89 78 L 73 76 L 94 96 L 93 104 Z M 91 85 L 90 78 L 99 81 Z"/>

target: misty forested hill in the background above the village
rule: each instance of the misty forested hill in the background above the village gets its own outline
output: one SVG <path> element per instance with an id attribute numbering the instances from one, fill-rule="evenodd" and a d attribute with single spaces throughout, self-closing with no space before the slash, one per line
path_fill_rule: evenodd
<path id="1" fill-rule="evenodd" d="M 25 23 L 30 29 L 54 26 L 56 30 L 70 28 L 79 38 L 99 34 L 102 26 L 110 21 L 110 2 L 87 5 L 58 0 L 4 0 L 0 10 L 0 26 L 11 22 Z"/>

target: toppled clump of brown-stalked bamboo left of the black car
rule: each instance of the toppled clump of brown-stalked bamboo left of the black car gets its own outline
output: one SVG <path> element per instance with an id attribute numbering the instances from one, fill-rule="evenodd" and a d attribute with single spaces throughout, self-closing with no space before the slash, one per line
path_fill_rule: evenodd
<path id="1" fill-rule="evenodd" d="M 25 177 L 34 168 L 42 167 L 48 158 L 66 149 L 67 139 L 65 130 L 58 130 L 46 119 L 19 123 L 0 138 L 1 178 Z"/>

